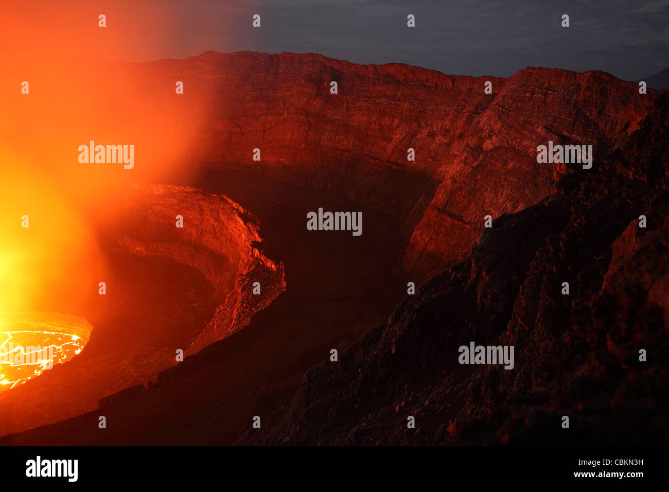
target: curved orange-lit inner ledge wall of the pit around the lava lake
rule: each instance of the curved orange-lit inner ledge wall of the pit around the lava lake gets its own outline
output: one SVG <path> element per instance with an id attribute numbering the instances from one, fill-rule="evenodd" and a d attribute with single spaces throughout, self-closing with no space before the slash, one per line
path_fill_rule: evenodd
<path id="1" fill-rule="evenodd" d="M 127 207 L 114 225 L 120 246 L 194 266 L 221 300 L 186 353 L 245 327 L 286 290 L 283 265 L 258 249 L 260 220 L 231 199 L 187 187 L 134 184 L 121 201 Z M 177 227 L 178 217 L 183 227 Z"/>

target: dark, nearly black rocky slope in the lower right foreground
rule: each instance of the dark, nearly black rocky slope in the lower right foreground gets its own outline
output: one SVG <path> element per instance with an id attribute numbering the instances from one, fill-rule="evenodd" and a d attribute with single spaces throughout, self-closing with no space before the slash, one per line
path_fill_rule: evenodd
<path id="1" fill-rule="evenodd" d="M 666 444 L 668 123 L 664 94 L 624 147 L 494 221 L 239 443 Z M 514 345 L 514 368 L 461 365 L 471 341 Z"/>

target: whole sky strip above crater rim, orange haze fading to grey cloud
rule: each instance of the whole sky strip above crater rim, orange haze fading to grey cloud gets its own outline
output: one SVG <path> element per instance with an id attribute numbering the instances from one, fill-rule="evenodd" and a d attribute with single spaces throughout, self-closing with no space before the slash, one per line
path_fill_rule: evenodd
<path id="1" fill-rule="evenodd" d="M 546 66 L 603 70 L 628 80 L 669 67 L 669 0 L 35 0 L 11 5 L 3 29 L 9 32 L 8 44 L 22 39 L 19 46 L 56 47 L 68 56 L 89 56 L 86 50 L 92 52 L 98 42 L 104 46 L 96 55 L 136 62 L 207 50 L 314 52 L 448 74 L 510 76 L 526 66 Z M 104 31 L 96 25 L 102 12 L 109 24 Z M 262 16 L 260 29 L 252 27 L 254 13 Z M 409 13 L 416 27 L 407 27 Z M 565 13 L 569 28 L 561 27 Z M 60 42 L 68 36 L 76 39 L 72 49 Z M 114 49 L 122 55 L 115 56 Z"/>

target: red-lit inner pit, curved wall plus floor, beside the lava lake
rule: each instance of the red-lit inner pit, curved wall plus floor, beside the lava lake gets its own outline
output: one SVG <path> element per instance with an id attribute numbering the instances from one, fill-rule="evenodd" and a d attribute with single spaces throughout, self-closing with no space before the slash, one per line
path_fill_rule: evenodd
<path id="1" fill-rule="evenodd" d="M 80 337 L 73 353 L 88 345 L 74 360 L 0 395 L 0 434 L 98 408 L 98 400 L 175 365 L 177 349 L 193 353 L 246 326 L 285 289 L 282 265 L 252 251 L 251 243 L 262 241 L 258 219 L 222 195 L 132 185 L 114 206 L 114 218 L 97 224 L 109 268 L 100 279 L 106 294 L 92 300 L 86 315 L 96 331 L 89 341 L 90 330 L 78 329 L 90 328 L 86 321 L 56 313 L 21 321 L 62 330 L 69 341 L 70 334 Z M 177 215 L 183 228 L 176 227 Z M 256 281 L 262 295 L 252 292 Z"/>

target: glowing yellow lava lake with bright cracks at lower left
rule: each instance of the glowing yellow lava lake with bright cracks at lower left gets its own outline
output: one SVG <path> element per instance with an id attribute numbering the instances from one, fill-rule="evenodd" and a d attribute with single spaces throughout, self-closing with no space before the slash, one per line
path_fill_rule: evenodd
<path id="1" fill-rule="evenodd" d="M 60 313 L 0 313 L 0 393 L 72 359 L 92 329 L 84 318 Z"/>

